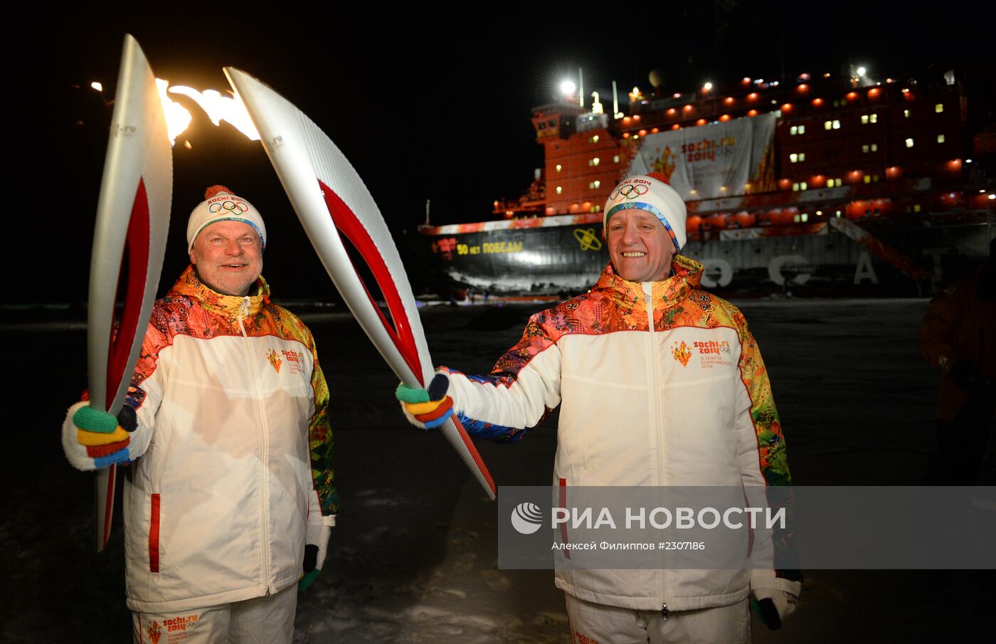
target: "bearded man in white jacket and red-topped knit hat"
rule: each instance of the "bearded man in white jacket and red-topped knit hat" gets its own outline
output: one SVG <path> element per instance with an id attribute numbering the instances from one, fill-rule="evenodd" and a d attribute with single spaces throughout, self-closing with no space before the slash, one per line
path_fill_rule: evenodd
<path id="1" fill-rule="evenodd" d="M 129 464 L 135 642 L 289 643 L 339 504 L 329 390 L 311 332 L 270 302 L 259 211 L 208 188 L 186 236 L 190 265 L 152 308 L 124 411 L 74 405 L 63 448 L 80 470 Z"/>

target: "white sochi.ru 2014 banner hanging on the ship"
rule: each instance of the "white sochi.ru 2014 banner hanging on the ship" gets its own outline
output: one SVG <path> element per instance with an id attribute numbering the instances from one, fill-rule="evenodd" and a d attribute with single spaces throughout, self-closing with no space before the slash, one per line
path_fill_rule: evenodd
<path id="1" fill-rule="evenodd" d="M 774 114 L 646 135 L 628 175 L 662 172 L 686 200 L 770 191 L 774 140 Z"/>

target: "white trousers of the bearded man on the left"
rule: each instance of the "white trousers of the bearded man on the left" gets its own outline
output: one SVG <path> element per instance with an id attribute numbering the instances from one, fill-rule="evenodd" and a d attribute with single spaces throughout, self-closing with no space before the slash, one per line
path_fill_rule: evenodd
<path id="1" fill-rule="evenodd" d="M 298 585 L 275 595 L 175 613 L 131 613 L 134 644 L 291 644 Z"/>

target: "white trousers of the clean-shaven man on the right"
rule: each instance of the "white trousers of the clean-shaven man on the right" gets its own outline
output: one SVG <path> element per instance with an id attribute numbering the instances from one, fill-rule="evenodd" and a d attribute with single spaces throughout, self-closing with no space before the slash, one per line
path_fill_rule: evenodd
<path id="1" fill-rule="evenodd" d="M 747 599 L 730 606 L 670 611 L 633 610 L 596 604 L 569 594 L 572 644 L 747 644 Z"/>

